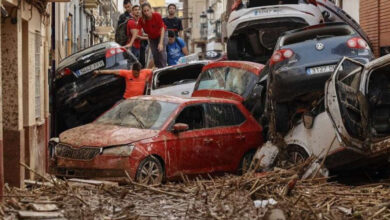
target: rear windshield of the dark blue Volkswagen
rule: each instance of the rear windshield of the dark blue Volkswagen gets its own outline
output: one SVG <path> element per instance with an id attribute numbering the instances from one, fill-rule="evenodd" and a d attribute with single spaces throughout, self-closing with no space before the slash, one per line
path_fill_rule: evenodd
<path id="1" fill-rule="evenodd" d="M 321 27 L 315 29 L 307 29 L 300 32 L 288 34 L 281 39 L 280 46 L 295 44 L 307 40 L 323 39 L 337 36 L 349 36 L 355 31 L 347 25 Z"/>

